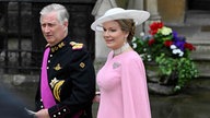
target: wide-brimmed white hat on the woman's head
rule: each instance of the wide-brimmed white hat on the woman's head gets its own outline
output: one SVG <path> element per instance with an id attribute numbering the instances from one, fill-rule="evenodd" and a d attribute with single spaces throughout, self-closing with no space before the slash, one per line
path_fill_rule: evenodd
<path id="1" fill-rule="evenodd" d="M 142 10 L 124 10 L 121 8 L 113 8 L 106 11 L 103 16 L 95 20 L 95 22 L 92 23 L 91 28 L 93 31 L 103 31 L 102 24 L 104 22 L 120 19 L 132 19 L 136 25 L 139 25 L 148 20 L 149 16 L 150 13 Z"/>

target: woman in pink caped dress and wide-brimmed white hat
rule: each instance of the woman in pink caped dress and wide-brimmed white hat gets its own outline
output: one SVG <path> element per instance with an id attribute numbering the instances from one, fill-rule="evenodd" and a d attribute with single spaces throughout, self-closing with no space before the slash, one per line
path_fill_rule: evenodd
<path id="1" fill-rule="evenodd" d="M 136 25 L 149 17 L 138 10 L 114 8 L 92 25 L 102 31 L 109 52 L 97 73 L 101 95 L 97 118 L 151 118 L 147 78 L 140 56 L 130 47 Z"/>

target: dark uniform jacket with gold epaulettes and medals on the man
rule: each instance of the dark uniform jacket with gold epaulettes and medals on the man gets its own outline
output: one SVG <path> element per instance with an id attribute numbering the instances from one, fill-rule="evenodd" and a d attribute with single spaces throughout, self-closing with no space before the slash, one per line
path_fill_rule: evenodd
<path id="1" fill-rule="evenodd" d="M 48 84 L 56 105 L 48 109 L 51 118 L 92 118 L 95 95 L 95 70 L 83 44 L 66 37 L 50 47 L 47 63 Z M 40 81 L 35 97 L 36 110 L 44 108 Z"/>

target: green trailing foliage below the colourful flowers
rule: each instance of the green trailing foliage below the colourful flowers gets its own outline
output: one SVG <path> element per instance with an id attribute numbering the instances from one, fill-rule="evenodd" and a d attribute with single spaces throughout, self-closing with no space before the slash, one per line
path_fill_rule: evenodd
<path id="1" fill-rule="evenodd" d="M 161 75 L 171 75 L 172 72 L 177 72 L 178 80 L 175 85 L 175 91 L 184 87 L 191 79 L 198 76 L 198 71 L 195 63 L 189 58 L 172 58 L 165 54 L 155 58 Z"/>

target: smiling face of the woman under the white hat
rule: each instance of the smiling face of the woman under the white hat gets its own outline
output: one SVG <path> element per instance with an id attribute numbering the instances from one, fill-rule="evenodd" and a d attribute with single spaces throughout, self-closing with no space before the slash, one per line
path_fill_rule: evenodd
<path id="1" fill-rule="evenodd" d="M 116 21 L 103 23 L 103 36 L 108 48 L 118 49 L 124 43 L 127 43 L 128 33 L 121 31 L 121 27 Z"/>

